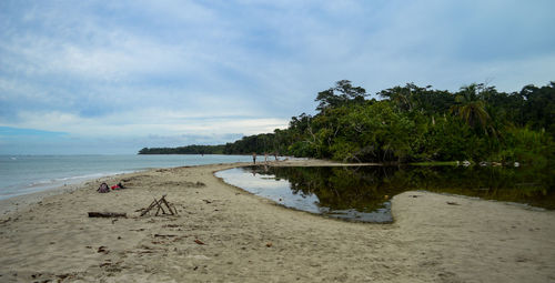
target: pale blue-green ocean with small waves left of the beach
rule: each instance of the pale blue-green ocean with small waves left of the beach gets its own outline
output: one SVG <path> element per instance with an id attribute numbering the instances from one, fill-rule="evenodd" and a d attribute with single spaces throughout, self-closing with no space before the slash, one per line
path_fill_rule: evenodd
<path id="1" fill-rule="evenodd" d="M 250 155 L 0 155 L 0 200 L 152 168 L 252 162 Z"/>

